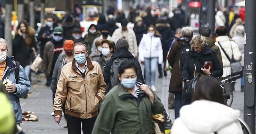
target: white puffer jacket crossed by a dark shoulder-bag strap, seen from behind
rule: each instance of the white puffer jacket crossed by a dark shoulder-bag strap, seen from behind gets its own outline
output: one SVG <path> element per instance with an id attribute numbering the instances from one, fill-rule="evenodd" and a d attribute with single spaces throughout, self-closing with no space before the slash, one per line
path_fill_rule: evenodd
<path id="1" fill-rule="evenodd" d="M 222 62 L 223 62 L 222 77 L 227 77 L 228 75 L 231 75 L 230 61 L 226 57 L 225 53 L 222 51 L 220 45 L 218 44 L 218 41 L 220 42 L 220 45 L 226 51 L 230 59 L 232 58 L 232 51 L 233 51 L 234 59 L 237 61 L 242 60 L 242 54 L 239 51 L 238 45 L 234 41 L 230 41 L 228 36 L 225 35 L 225 36 L 216 37 L 215 45 L 217 45 L 220 48 Z"/>

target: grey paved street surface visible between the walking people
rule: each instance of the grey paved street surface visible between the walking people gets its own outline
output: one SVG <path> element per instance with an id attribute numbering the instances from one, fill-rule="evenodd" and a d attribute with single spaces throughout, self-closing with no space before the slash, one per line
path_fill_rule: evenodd
<path id="1" fill-rule="evenodd" d="M 142 67 L 143 69 L 144 67 Z M 170 71 L 168 76 L 158 78 L 158 71 L 156 74 L 156 94 L 162 100 L 164 107 L 168 109 L 168 89 L 170 83 Z M 26 134 L 67 134 L 67 128 L 63 128 L 65 124 L 64 118 L 57 124 L 54 121 L 54 117 L 51 116 L 52 108 L 52 91 L 50 87 L 46 87 L 46 78 L 41 73 L 36 75 L 32 73 L 32 89 L 29 91 L 27 99 L 20 99 L 20 103 L 23 111 L 33 111 L 38 116 L 39 121 L 29 122 L 24 121 L 20 126 L 23 128 Z M 234 91 L 234 101 L 232 108 L 241 111 L 240 118 L 243 118 L 243 103 L 244 94 L 240 92 L 240 79 L 237 80 L 236 90 Z M 175 120 L 174 109 L 167 110 L 170 113 L 172 121 Z"/>

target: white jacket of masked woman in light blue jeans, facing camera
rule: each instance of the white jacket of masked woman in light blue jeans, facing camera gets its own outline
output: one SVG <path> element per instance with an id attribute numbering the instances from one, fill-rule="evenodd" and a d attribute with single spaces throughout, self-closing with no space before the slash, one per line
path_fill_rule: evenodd
<path id="1" fill-rule="evenodd" d="M 144 58 L 158 57 L 158 63 L 163 62 L 163 49 L 161 39 L 159 37 L 150 36 L 149 33 L 144 34 L 139 45 L 139 60 Z"/>

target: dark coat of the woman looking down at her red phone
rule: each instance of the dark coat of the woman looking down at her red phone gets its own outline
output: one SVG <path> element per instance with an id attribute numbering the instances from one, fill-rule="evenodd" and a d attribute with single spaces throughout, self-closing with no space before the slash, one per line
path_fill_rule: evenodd
<path id="1" fill-rule="evenodd" d="M 198 73 L 204 74 L 201 69 L 203 65 L 210 61 L 213 70 L 211 71 L 212 77 L 221 77 L 223 75 L 223 69 L 220 65 L 220 61 L 215 54 L 215 51 L 210 49 L 208 45 L 204 45 L 200 53 L 197 53 L 192 49 L 188 55 L 184 67 L 182 69 L 182 80 L 186 81 L 193 79 Z"/>

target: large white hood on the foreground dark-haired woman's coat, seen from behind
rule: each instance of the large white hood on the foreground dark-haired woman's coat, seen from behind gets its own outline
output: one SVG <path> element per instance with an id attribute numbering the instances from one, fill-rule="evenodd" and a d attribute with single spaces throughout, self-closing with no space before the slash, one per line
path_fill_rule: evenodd
<path id="1" fill-rule="evenodd" d="M 184 125 L 194 133 L 210 134 L 232 124 L 240 111 L 213 101 L 194 101 L 182 106 L 180 118 Z"/>

